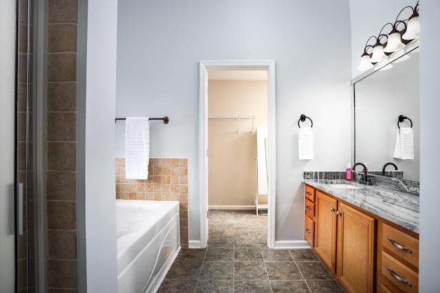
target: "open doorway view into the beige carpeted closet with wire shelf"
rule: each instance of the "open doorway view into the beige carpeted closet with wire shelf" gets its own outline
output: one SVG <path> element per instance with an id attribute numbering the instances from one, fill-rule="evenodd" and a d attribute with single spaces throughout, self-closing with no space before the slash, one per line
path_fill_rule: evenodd
<path id="1" fill-rule="evenodd" d="M 267 71 L 209 70 L 208 244 L 267 244 L 266 129 Z"/>

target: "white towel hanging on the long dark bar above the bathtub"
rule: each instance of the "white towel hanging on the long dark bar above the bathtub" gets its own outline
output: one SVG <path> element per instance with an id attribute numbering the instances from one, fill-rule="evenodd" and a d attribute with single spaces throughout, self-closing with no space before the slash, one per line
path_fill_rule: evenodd
<path id="1" fill-rule="evenodd" d="M 150 121 L 130 117 L 125 122 L 125 177 L 147 179 L 150 159 Z"/>

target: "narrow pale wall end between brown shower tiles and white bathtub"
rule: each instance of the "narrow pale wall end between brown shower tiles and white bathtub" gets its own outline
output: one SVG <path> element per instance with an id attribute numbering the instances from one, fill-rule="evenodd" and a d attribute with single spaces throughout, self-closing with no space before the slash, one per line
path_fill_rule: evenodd
<path id="1" fill-rule="evenodd" d="M 85 89 L 87 292 L 118 292 L 114 158 L 117 8 L 117 0 L 88 1 L 87 72 L 82 74 L 87 74 Z M 79 117 L 83 115 L 84 113 L 78 113 Z M 82 146 L 78 145 L 78 148 Z"/>

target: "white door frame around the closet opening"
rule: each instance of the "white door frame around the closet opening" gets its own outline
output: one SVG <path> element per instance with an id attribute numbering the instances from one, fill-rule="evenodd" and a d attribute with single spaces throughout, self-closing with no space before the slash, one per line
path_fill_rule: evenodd
<path id="1" fill-rule="evenodd" d="M 276 95 L 274 60 L 210 60 L 199 63 L 200 247 L 208 245 L 208 70 L 267 70 L 267 246 L 275 247 Z"/>

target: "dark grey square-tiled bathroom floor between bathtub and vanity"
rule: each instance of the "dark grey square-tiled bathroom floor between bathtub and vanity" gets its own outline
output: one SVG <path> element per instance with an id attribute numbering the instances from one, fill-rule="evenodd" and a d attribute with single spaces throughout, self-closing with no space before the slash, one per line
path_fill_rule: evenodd
<path id="1" fill-rule="evenodd" d="M 182 248 L 158 292 L 344 292 L 310 249 Z"/>

